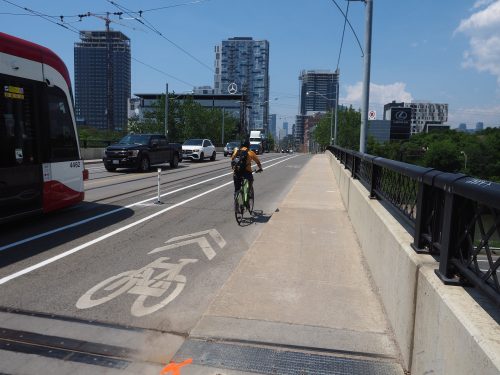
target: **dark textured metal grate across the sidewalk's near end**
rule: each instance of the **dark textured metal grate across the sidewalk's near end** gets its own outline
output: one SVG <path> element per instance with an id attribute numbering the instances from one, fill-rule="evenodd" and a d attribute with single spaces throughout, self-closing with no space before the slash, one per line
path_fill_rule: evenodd
<path id="1" fill-rule="evenodd" d="M 270 375 L 401 375 L 394 362 L 319 355 L 266 347 L 187 340 L 174 361 Z"/>

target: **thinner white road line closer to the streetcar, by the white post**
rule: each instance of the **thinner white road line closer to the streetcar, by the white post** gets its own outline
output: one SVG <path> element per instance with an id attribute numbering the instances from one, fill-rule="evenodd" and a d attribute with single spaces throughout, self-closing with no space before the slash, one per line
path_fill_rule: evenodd
<path id="1" fill-rule="evenodd" d="M 276 158 L 274 160 L 279 160 L 280 158 Z M 290 160 L 292 158 L 288 158 L 288 159 L 285 159 L 285 160 L 282 160 L 282 161 L 286 161 L 286 160 Z M 263 162 L 262 164 L 264 163 L 269 163 L 271 161 L 274 161 L 274 160 L 270 160 L 270 161 L 266 161 L 266 162 Z M 281 162 L 280 162 L 281 163 Z M 275 164 L 272 164 L 272 165 L 275 165 Z M 270 165 L 270 167 L 272 166 Z M 224 173 L 224 174 L 221 174 L 219 176 L 215 176 L 215 177 L 212 177 L 212 178 L 209 178 L 207 180 L 204 180 L 204 181 L 200 181 L 200 182 L 197 182 L 195 184 L 192 184 L 192 185 L 188 185 L 188 186 L 184 186 L 182 188 L 179 188 L 179 189 L 175 189 L 175 190 L 172 190 L 172 191 L 169 191 L 167 193 L 164 193 L 164 194 L 161 194 L 160 197 L 165 197 L 167 195 L 171 195 L 171 194 L 175 194 L 175 193 L 178 193 L 179 191 L 182 191 L 182 190 L 186 190 L 186 189 L 190 189 L 192 187 L 195 187 L 195 186 L 198 186 L 198 185 L 201 185 L 201 184 L 205 184 L 207 182 L 210 182 L 210 181 L 213 181 L 213 180 L 216 180 L 218 178 L 222 178 L 222 177 L 225 177 L 225 176 L 228 176 L 230 174 L 233 174 L 232 172 L 229 172 L 229 173 Z M 91 221 L 94 221 L 94 220 L 97 220 L 97 219 L 101 219 L 105 216 L 108 216 L 108 215 L 112 215 L 112 214 L 115 214 L 117 212 L 120 212 L 120 211 L 123 211 L 123 210 L 126 210 L 128 208 L 131 208 L 131 207 L 134 207 L 134 206 L 142 206 L 144 205 L 144 203 L 147 203 L 147 202 L 150 202 L 154 199 L 157 199 L 158 198 L 158 195 L 155 194 L 154 196 L 152 196 L 151 198 L 148 198 L 148 199 L 145 199 L 145 200 L 142 200 L 140 202 L 136 202 L 136 203 L 132 203 L 132 204 L 129 204 L 128 206 L 124 206 L 124 207 L 120 207 L 120 208 L 117 208 L 117 209 L 114 209 L 114 210 L 111 210 L 111 211 L 108 211 L 108 212 L 105 212 L 105 213 L 102 213 L 100 215 L 96 215 L 96 216 L 92 216 L 92 217 L 89 217 L 88 219 L 85 219 L 85 220 L 80 220 L 80 221 L 77 221 L 76 223 L 73 223 L 73 224 L 69 224 L 69 225 L 65 225 L 64 227 L 59 227 L 57 229 L 53 229 L 51 231 L 48 231 L 48 232 L 44 232 L 44 233 L 40 233 L 40 234 L 37 234 L 36 236 L 32 236 L 32 237 L 28 237 L 28 238 L 25 238 L 23 240 L 20 240 L 20 241 L 17 241 L 17 242 L 13 242 L 13 243 L 10 243 L 10 244 L 7 244 L 7 245 L 4 245 L 4 246 L 0 246 L 0 251 L 4 251 L 4 250 L 7 250 L 7 249 L 10 249 L 12 247 L 15 247 L 15 246 L 19 246 L 19 245 L 22 245 L 26 242 L 31 242 L 33 240 L 37 240 L 39 238 L 43 238 L 43 237 L 47 237 L 47 236 L 50 236 L 51 234 L 54 234 L 54 233 L 58 233 L 58 232 L 62 232 L 63 230 L 66 230 L 66 229 L 70 229 L 70 228 L 74 228 L 74 227 L 77 227 L 79 225 L 83 225 L 83 224 L 86 224 L 86 223 L 89 223 Z"/>

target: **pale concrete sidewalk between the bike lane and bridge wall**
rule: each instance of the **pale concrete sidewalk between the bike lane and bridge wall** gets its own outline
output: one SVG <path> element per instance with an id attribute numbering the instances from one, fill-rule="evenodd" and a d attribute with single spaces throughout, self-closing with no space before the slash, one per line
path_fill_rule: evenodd
<path id="1" fill-rule="evenodd" d="M 381 360 L 403 373 L 326 155 L 303 168 L 190 339 Z M 200 368 L 186 374 L 208 373 Z"/>

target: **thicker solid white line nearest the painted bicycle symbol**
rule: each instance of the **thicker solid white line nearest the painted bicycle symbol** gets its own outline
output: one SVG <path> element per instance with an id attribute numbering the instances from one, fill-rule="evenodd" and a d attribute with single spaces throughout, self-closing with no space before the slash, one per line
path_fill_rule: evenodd
<path id="1" fill-rule="evenodd" d="M 277 163 L 271 164 L 271 165 L 269 165 L 267 168 L 271 168 L 271 167 L 273 167 L 273 166 L 275 166 L 275 165 L 277 165 L 277 164 L 283 163 L 284 161 L 290 160 L 290 159 L 292 159 L 292 158 L 294 158 L 294 157 L 295 157 L 295 156 L 293 156 L 293 157 L 291 157 L 291 158 L 288 158 L 288 159 L 285 159 L 285 160 L 281 160 L 281 161 L 279 161 L 279 162 L 277 162 Z M 228 174 L 232 174 L 232 173 L 226 173 L 226 174 L 224 174 L 224 175 L 222 175 L 222 176 L 227 176 Z M 222 177 L 222 176 L 220 176 L 220 177 Z M 209 179 L 209 180 L 212 180 L 212 179 Z M 207 180 L 207 181 L 209 181 L 209 180 Z M 10 280 L 13 280 L 13 279 L 16 279 L 16 278 L 18 278 L 18 277 L 20 277 L 20 276 L 22 276 L 22 275 L 27 274 L 27 273 L 30 273 L 31 271 L 34 271 L 34 270 L 37 270 L 37 269 L 39 269 L 39 268 L 45 267 L 46 265 L 48 265 L 48 264 L 50 264 L 50 263 L 53 263 L 53 262 L 55 262 L 55 261 L 58 261 L 59 259 L 62 259 L 62 258 L 67 257 L 68 255 L 74 254 L 74 253 L 76 253 L 76 252 L 78 252 L 78 251 L 80 251 L 80 250 L 83 250 L 83 249 L 85 249 L 85 248 L 87 248 L 87 247 L 89 247 L 89 246 L 92 246 L 92 245 L 94 245 L 94 244 L 96 244 L 96 243 L 98 243 L 98 242 L 101 242 L 101 241 L 103 241 L 103 240 L 105 240 L 105 239 L 107 239 L 107 238 L 109 238 L 109 237 L 114 236 L 115 234 L 121 233 L 121 232 L 123 232 L 123 231 L 125 231 L 125 230 L 127 230 L 127 229 L 130 229 L 130 228 L 132 228 L 132 227 L 135 227 L 136 225 L 139 225 L 139 224 L 141 224 L 141 223 L 144 223 L 145 221 L 148 221 L 148 220 L 150 220 L 150 219 L 152 219 L 152 218 L 154 218 L 154 217 L 156 217 L 156 216 L 162 215 L 162 214 L 164 214 L 165 212 L 168 212 L 168 211 L 170 211 L 170 210 L 173 210 L 173 209 L 174 209 L 174 208 L 176 208 L 176 207 L 182 206 L 182 205 L 184 205 L 184 204 L 186 204 L 186 203 L 188 203 L 188 202 L 191 202 L 191 201 L 193 201 L 193 200 L 195 200 L 195 199 L 198 199 L 198 198 L 200 198 L 200 197 L 202 197 L 202 196 L 204 196 L 204 195 L 207 195 L 207 194 L 210 194 L 210 193 L 212 193 L 212 192 L 214 192 L 214 191 L 216 191 L 216 190 L 222 189 L 223 187 L 228 186 L 228 185 L 230 185 L 230 184 L 232 184 L 232 183 L 233 183 L 233 181 L 226 182 L 226 183 L 224 183 L 224 184 L 222 184 L 222 185 L 219 185 L 219 186 L 217 186 L 217 187 L 215 187 L 215 188 L 212 188 L 212 189 L 207 190 L 207 191 L 205 191 L 205 192 L 203 192 L 203 193 L 200 193 L 200 194 L 198 194 L 198 195 L 195 195 L 194 197 L 188 198 L 188 199 L 186 199 L 186 200 L 184 200 L 184 201 L 182 201 L 182 202 L 179 202 L 179 203 L 176 203 L 176 204 L 174 204 L 174 205 L 172 205 L 172 206 L 169 206 L 169 207 L 167 207 L 167 208 L 165 208 L 165 209 L 163 209 L 163 210 L 161 210 L 161 211 L 155 212 L 154 214 L 151 214 L 151 215 L 149 215 L 149 216 L 146 216 L 146 217 L 144 217 L 144 218 L 142 218 L 142 219 L 140 219 L 140 220 L 137 220 L 137 221 L 135 221 L 135 222 L 133 222 L 133 223 L 130 223 L 130 224 L 128 224 L 128 225 L 125 225 L 124 227 L 121 227 L 121 228 L 119 228 L 119 229 L 116 229 L 116 230 L 114 230 L 114 231 L 112 231 L 112 232 L 110 232 L 110 233 L 104 234 L 104 235 L 102 235 L 102 236 L 100 236 L 100 237 L 98 237 L 98 238 L 93 239 L 92 241 L 86 242 L 86 243 L 84 243 L 84 244 L 82 244 L 82 245 L 80 245 L 80 246 L 77 246 L 77 247 L 75 247 L 75 248 L 73 248 L 73 249 L 71 249 L 71 250 L 65 251 L 64 253 L 61 253 L 61 254 L 56 255 L 56 256 L 54 256 L 54 257 L 52 257 L 52 258 L 46 259 L 46 260 L 44 260 L 43 262 L 40 262 L 40 263 L 34 264 L 33 266 L 30 266 L 30 267 L 28 267 L 28 268 L 25 268 L 25 269 L 23 269 L 23 270 L 20 270 L 20 271 L 18 271 L 18 272 L 15 272 L 15 273 L 13 273 L 13 274 L 11 274 L 11 275 L 9 275 L 9 276 L 5 276 L 5 277 L 3 277 L 3 278 L 1 278 L 1 279 L 0 279 L 0 285 L 3 285 L 3 284 L 5 284 L 6 282 L 8 282 L 8 281 L 10 281 Z M 197 185 L 197 184 L 196 184 L 196 185 Z M 165 194 L 165 195 L 166 195 L 166 194 Z M 116 211 L 116 210 L 115 210 L 115 211 Z M 100 217 L 101 215 L 98 215 L 98 216 Z M 84 221 L 85 221 L 85 220 L 84 220 Z M 87 219 L 87 221 L 89 221 L 89 219 Z M 54 232 L 54 231 L 51 231 L 51 232 Z M 39 238 L 39 237 L 37 237 L 37 238 Z"/>

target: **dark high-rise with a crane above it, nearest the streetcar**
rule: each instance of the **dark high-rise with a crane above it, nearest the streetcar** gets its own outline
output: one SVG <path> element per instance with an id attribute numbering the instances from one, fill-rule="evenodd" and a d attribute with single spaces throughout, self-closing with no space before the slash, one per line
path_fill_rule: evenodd
<path id="1" fill-rule="evenodd" d="M 77 121 L 99 129 L 125 129 L 130 39 L 120 31 L 81 31 L 74 51 Z"/>

